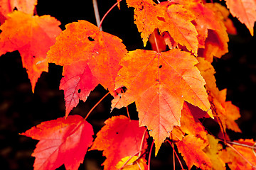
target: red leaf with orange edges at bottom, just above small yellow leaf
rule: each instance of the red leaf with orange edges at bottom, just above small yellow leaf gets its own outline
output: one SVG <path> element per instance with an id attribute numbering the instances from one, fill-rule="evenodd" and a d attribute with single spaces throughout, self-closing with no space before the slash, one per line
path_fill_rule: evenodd
<path id="1" fill-rule="evenodd" d="M 104 169 L 117 169 L 115 166 L 122 158 L 143 152 L 140 149 L 146 149 L 146 142 L 142 145 L 146 128 L 140 128 L 139 121 L 119 115 L 106 120 L 105 124 L 97 133 L 91 147 L 91 149 L 103 150 L 103 155 L 107 157 L 103 162 Z M 144 138 L 146 139 L 147 136 Z"/>

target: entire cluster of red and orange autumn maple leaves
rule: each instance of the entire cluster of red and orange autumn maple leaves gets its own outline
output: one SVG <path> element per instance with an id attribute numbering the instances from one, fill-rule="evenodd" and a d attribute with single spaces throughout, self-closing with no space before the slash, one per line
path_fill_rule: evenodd
<path id="1" fill-rule="evenodd" d="M 235 123 L 240 112 L 217 88 L 211 62 L 228 52 L 228 34 L 236 34 L 230 13 L 253 35 L 256 1 L 226 0 L 227 8 L 201 0 L 126 3 L 152 50 L 127 51 L 121 39 L 87 21 L 62 31 L 55 18 L 34 14 L 36 0 L 0 0 L 0 55 L 18 50 L 32 89 L 48 63 L 63 66 L 65 116 L 21 133 L 39 140 L 34 169 L 78 169 L 88 149 L 103 151 L 104 169 L 150 169 L 153 145 L 157 155 L 163 142 L 175 145 L 177 159 L 186 162 L 182 169 L 255 169 L 255 141 L 228 137 L 227 129 L 241 132 Z M 135 102 L 139 120 L 110 113 L 94 134 L 86 120 L 93 108 L 85 118 L 69 115 L 98 84 L 114 97 L 112 109 Z M 218 136 L 210 135 L 203 118 L 219 124 Z"/>

